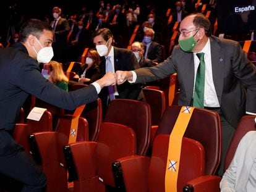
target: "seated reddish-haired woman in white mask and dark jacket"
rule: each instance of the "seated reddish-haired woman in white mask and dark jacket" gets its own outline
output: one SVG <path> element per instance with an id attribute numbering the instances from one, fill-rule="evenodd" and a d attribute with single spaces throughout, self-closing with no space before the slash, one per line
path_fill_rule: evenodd
<path id="1" fill-rule="evenodd" d="M 75 81 L 83 84 L 90 84 L 100 78 L 100 56 L 97 51 L 89 49 L 85 63 L 81 64 L 81 68 L 77 75 L 75 75 Z"/>

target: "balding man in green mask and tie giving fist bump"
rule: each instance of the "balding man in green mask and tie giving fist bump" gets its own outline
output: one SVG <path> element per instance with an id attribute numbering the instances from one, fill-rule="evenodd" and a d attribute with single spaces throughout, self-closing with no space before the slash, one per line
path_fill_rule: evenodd
<path id="1" fill-rule="evenodd" d="M 197 54 L 202 55 L 198 59 Z M 256 67 L 248 59 L 238 42 L 211 35 L 211 23 L 203 14 L 188 15 L 179 28 L 177 45 L 164 62 L 155 67 L 134 71 L 117 71 L 117 84 L 155 81 L 177 73 L 180 85 L 180 106 L 193 106 L 197 68 L 204 64 L 203 106 L 221 117 L 223 162 L 237 123 L 245 113 L 256 114 Z M 245 87 L 247 93 L 245 93 Z M 169 133 L 158 130 L 158 133 Z"/>

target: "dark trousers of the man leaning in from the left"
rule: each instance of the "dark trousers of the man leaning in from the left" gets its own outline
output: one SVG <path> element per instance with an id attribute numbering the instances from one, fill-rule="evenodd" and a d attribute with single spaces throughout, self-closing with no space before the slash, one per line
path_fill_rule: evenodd
<path id="1" fill-rule="evenodd" d="M 22 192 L 43 191 L 46 176 L 5 130 L 0 130 L 0 173 L 23 183 Z"/>

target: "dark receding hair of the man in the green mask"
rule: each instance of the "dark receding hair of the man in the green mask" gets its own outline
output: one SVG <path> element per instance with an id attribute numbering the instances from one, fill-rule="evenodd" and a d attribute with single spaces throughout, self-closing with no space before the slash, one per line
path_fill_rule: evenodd
<path id="1" fill-rule="evenodd" d="M 211 36 L 212 33 L 212 27 L 211 27 L 211 22 L 210 20 L 205 17 L 205 15 L 201 13 L 193 14 L 195 15 L 193 23 L 196 28 L 202 27 L 205 29 L 205 35 L 206 36 Z"/>

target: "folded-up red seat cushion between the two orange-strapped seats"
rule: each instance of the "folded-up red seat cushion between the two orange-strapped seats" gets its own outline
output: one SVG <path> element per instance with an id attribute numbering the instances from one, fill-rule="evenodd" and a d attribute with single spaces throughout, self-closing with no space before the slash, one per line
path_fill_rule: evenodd
<path id="1" fill-rule="evenodd" d="M 117 123 L 101 124 L 96 149 L 97 172 L 106 185 L 115 186 L 112 164 L 121 157 L 136 154 L 135 131 Z"/>

